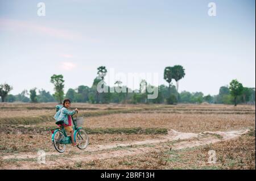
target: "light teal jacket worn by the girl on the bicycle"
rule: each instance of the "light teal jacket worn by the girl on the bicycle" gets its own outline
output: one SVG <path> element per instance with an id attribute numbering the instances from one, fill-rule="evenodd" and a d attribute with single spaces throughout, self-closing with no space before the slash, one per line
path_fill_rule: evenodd
<path id="1" fill-rule="evenodd" d="M 64 124 L 68 124 L 68 115 L 75 115 L 76 111 L 68 111 L 67 108 L 65 108 L 62 105 L 56 106 L 56 114 L 54 116 L 55 121 L 64 121 Z"/>

